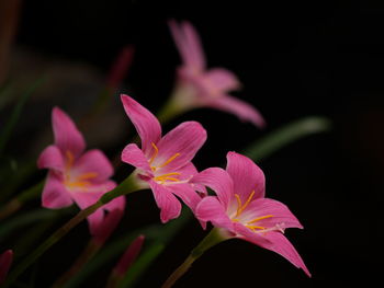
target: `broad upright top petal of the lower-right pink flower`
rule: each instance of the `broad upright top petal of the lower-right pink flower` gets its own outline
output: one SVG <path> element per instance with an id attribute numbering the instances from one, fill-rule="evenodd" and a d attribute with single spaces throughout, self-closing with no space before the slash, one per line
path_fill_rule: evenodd
<path id="1" fill-rule="evenodd" d="M 240 196 L 241 203 L 247 201 L 252 191 L 253 199 L 264 197 L 264 173 L 248 157 L 228 152 L 226 171 L 234 181 L 234 193 Z"/>

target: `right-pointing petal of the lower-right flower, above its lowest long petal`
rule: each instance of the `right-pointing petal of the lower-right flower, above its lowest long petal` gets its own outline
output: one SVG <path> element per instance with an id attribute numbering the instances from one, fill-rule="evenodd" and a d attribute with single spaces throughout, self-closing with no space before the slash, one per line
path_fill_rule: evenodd
<path id="1" fill-rule="evenodd" d="M 249 204 L 247 209 L 241 214 L 244 221 L 251 221 L 263 216 L 272 216 L 258 221 L 258 226 L 274 227 L 281 226 L 285 228 L 303 228 L 297 218 L 290 211 L 290 209 L 282 204 L 269 198 L 259 198 Z"/>

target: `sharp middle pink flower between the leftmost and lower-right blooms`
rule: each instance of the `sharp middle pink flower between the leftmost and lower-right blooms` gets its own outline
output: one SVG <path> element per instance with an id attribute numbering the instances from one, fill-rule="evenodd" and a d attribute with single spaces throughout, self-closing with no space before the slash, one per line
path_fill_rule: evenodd
<path id="1" fill-rule="evenodd" d="M 194 210 L 201 199 L 195 189 L 205 191 L 189 183 L 197 173 L 191 160 L 206 140 L 205 129 L 196 122 L 184 122 L 161 137 L 160 123 L 148 110 L 127 95 L 122 95 L 122 102 L 142 139 L 142 149 L 134 143 L 124 148 L 122 161 L 136 168 L 143 188 L 153 191 L 161 221 L 179 217 L 181 204 L 176 196 Z"/>

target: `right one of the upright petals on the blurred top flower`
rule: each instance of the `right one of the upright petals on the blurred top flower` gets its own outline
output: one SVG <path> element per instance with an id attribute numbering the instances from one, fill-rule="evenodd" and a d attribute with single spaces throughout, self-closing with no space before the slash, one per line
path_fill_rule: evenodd
<path id="1" fill-rule="evenodd" d="M 205 69 L 204 51 L 196 30 L 187 21 L 181 23 L 181 30 L 184 33 L 185 45 L 189 48 L 193 66 L 199 70 Z"/>

